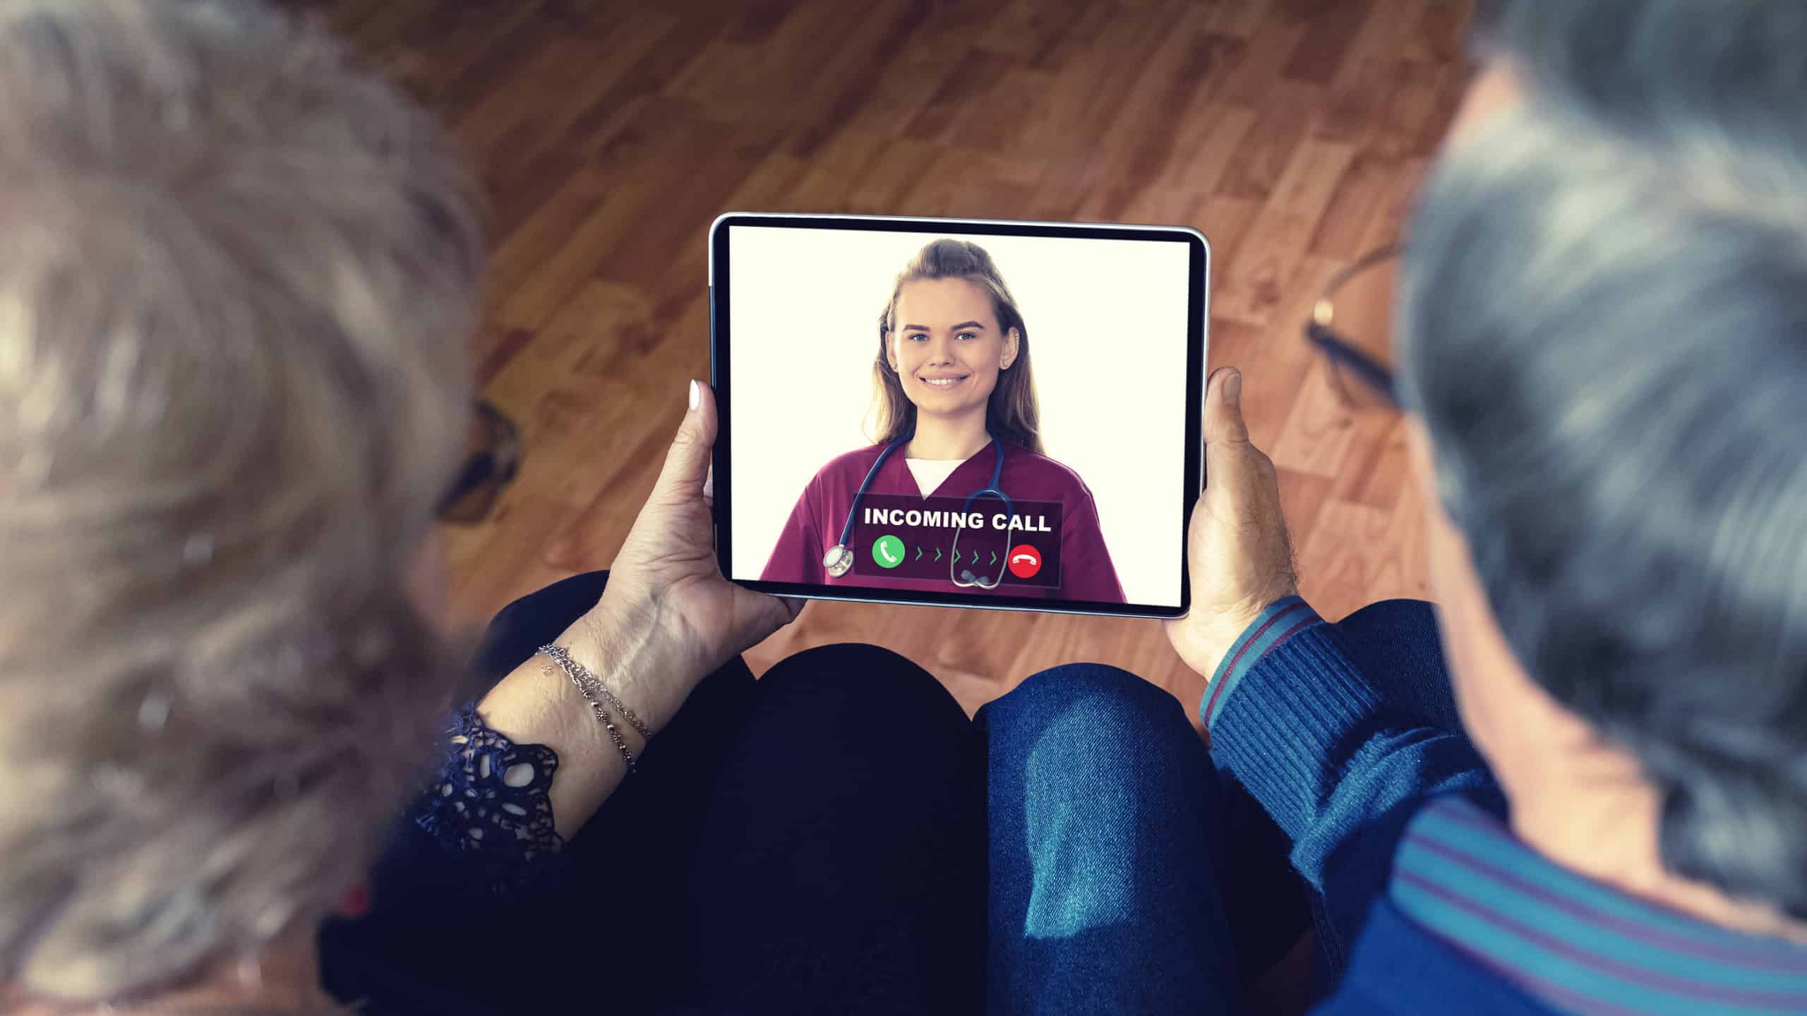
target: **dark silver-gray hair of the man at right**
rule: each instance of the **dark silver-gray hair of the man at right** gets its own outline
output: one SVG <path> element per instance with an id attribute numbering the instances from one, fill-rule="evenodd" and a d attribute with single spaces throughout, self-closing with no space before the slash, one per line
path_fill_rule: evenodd
<path id="1" fill-rule="evenodd" d="M 1807 918 L 1807 7 L 1496 4 L 1397 340 L 1507 642 L 1668 870 Z"/>

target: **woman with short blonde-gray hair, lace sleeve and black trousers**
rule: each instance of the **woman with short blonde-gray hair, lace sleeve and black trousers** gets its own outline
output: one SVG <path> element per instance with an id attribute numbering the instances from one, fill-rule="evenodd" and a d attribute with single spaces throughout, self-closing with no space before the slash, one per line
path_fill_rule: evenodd
<path id="1" fill-rule="evenodd" d="M 475 208 L 273 7 L 0 5 L 0 1009 L 960 1007 L 967 718 L 871 647 L 754 682 L 795 607 L 716 569 L 705 385 L 613 580 L 457 676 Z"/>

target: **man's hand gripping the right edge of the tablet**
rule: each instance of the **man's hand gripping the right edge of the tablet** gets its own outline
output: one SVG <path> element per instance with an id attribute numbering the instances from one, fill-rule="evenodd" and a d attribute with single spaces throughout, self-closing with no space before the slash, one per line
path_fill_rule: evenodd
<path id="1" fill-rule="evenodd" d="M 1205 492 L 1193 508 L 1187 564 L 1193 609 L 1166 622 L 1167 640 L 1211 680 L 1254 618 L 1299 589 L 1274 461 L 1249 443 L 1234 367 L 1205 383 Z"/>

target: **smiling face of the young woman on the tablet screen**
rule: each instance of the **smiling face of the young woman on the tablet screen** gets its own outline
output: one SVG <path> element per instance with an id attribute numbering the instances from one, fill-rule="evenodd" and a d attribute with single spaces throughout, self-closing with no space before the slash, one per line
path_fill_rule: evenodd
<path id="1" fill-rule="evenodd" d="M 985 412 L 1019 340 L 997 329 L 990 293 L 965 278 L 916 278 L 898 289 L 893 320 L 885 358 L 916 412 Z"/>

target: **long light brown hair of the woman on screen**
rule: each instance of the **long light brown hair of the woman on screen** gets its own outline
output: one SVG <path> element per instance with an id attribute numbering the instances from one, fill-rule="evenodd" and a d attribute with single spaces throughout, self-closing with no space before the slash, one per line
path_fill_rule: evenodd
<path id="1" fill-rule="evenodd" d="M 985 427 L 1003 441 L 1012 441 L 1043 454 L 1041 447 L 1041 410 L 1035 401 L 1035 376 L 1028 360 L 1028 325 L 1017 309 L 1005 277 L 997 271 L 992 255 L 970 240 L 934 240 L 922 248 L 914 259 L 898 273 L 891 287 L 891 302 L 878 315 L 878 356 L 873 360 L 873 414 L 875 445 L 889 445 L 916 430 L 916 403 L 904 394 L 904 381 L 885 356 L 885 343 L 891 329 L 896 327 L 898 293 L 905 282 L 918 278 L 965 278 L 992 298 L 992 311 L 997 315 L 997 329 L 1010 334 L 1017 329 L 1017 354 L 1008 369 L 997 372 L 997 385 L 985 407 Z"/>

